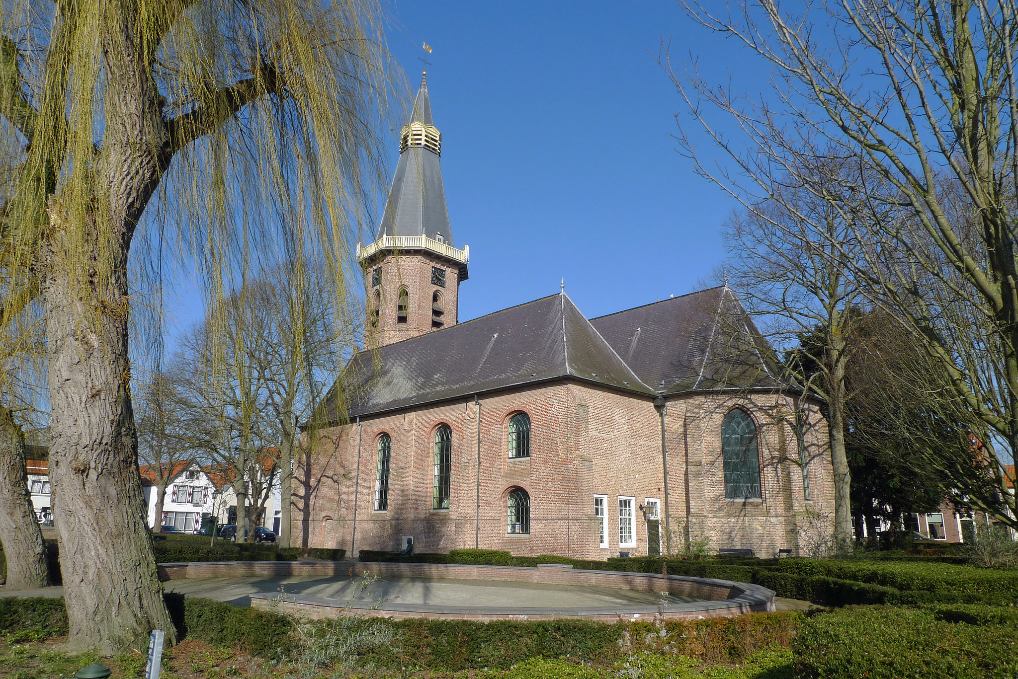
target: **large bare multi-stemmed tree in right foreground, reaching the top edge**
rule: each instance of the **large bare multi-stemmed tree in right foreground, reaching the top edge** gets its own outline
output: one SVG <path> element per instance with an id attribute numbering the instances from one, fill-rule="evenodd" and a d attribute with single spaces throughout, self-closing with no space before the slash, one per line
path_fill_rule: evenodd
<path id="1" fill-rule="evenodd" d="M 1002 463 L 1018 451 L 1018 3 L 861 0 L 798 14 L 777 0 L 740 2 L 734 14 L 683 5 L 773 73 L 771 96 L 750 100 L 694 65 L 671 71 L 734 167 L 702 162 L 688 128 L 684 151 L 747 204 L 780 195 L 776 177 L 794 177 L 835 206 L 855 192 L 852 205 L 869 214 L 852 222 L 849 242 L 861 257 L 839 259 L 872 304 L 922 340 L 949 377 L 950 398 L 992 431 L 983 454 L 1011 498 L 998 516 L 1013 520 Z M 735 134 L 722 133 L 712 112 L 734 121 Z M 813 172 L 832 153 L 863 168 L 833 190 Z"/>

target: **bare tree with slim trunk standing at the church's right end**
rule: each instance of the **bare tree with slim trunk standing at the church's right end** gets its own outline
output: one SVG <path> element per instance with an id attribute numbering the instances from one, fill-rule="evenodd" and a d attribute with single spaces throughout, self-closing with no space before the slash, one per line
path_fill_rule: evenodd
<path id="1" fill-rule="evenodd" d="M 812 171 L 817 178 L 834 175 L 830 184 L 837 187 L 852 168 L 849 162 L 832 159 Z M 789 179 L 785 185 L 772 183 L 773 197 L 749 204 L 729 220 L 724 230 L 729 253 L 725 273 L 768 338 L 786 349 L 782 382 L 801 386 L 805 393 L 825 401 L 834 464 L 835 540 L 846 543 L 852 537 L 852 514 L 845 450 L 849 399 L 845 372 L 857 316 L 853 307 L 862 301 L 846 262 L 860 256 L 852 245 L 854 211 L 833 204 L 829 194 L 817 194 L 812 185 L 795 183 L 794 176 Z M 811 356 L 814 360 L 803 361 L 796 345 L 807 334 L 817 346 Z M 804 449 L 800 410 L 796 408 L 789 423 Z M 807 463 L 800 460 L 803 468 Z"/>

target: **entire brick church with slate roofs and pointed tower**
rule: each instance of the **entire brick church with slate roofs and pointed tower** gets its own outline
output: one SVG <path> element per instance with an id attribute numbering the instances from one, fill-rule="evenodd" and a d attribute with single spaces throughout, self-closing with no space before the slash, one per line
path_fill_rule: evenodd
<path id="1" fill-rule="evenodd" d="M 364 350 L 295 470 L 294 544 L 771 557 L 833 533 L 827 422 L 727 286 L 596 319 L 561 290 L 460 323 L 441 155 L 421 79 L 357 247 Z"/>

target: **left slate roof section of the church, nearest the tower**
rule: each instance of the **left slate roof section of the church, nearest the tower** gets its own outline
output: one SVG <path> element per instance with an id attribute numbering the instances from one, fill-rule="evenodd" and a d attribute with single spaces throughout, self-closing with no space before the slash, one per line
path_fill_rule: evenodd
<path id="1" fill-rule="evenodd" d="M 654 395 L 565 293 L 363 351 L 342 382 L 353 418 L 567 377 Z M 328 421 L 342 419 L 336 389 Z"/>

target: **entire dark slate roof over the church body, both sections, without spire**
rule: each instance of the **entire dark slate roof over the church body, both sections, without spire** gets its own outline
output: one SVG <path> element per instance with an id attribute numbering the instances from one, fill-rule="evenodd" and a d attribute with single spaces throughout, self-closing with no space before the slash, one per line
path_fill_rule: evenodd
<path id="1" fill-rule="evenodd" d="M 776 373 L 768 370 L 772 355 L 727 288 L 592 321 L 560 293 L 358 353 L 320 414 L 336 422 L 344 414 L 353 419 L 566 378 L 652 398 L 772 389 L 777 386 Z"/>

